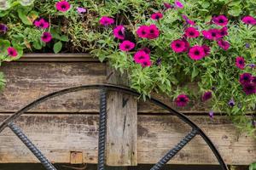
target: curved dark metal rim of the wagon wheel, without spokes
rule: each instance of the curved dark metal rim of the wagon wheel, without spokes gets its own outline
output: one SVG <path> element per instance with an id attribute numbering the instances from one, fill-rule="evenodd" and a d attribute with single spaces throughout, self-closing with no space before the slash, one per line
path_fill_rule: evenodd
<path id="1" fill-rule="evenodd" d="M 83 85 L 83 86 L 74 87 L 74 88 L 65 88 L 60 91 L 56 91 L 54 93 L 44 95 L 43 97 L 34 100 L 29 105 L 26 105 L 20 111 L 17 111 L 17 112 L 15 112 L 15 114 L 9 116 L 4 122 L 2 122 L 0 124 L 0 133 L 3 132 L 3 129 L 5 127 L 8 127 L 13 122 L 15 122 L 15 120 L 17 118 L 19 118 L 22 114 L 24 114 L 26 111 L 31 110 L 32 108 L 43 103 L 44 101 L 53 99 L 53 98 L 55 98 L 57 96 L 61 96 L 63 94 L 69 94 L 69 93 L 78 92 L 78 91 L 82 91 L 82 90 L 88 90 L 88 89 L 108 89 L 108 90 L 113 90 L 113 91 L 119 91 L 119 92 L 122 92 L 125 94 L 131 94 L 131 95 L 134 95 L 137 97 L 141 95 L 141 94 L 137 93 L 136 91 L 131 90 L 131 88 L 121 87 L 121 86 L 112 85 L 112 84 L 91 84 L 91 85 Z M 150 101 L 151 103 L 153 103 L 154 105 L 159 105 L 161 108 L 163 108 L 167 111 L 170 111 L 170 113 L 179 117 L 183 122 L 186 122 L 187 124 L 189 124 L 189 126 L 192 127 L 194 130 L 196 130 L 197 133 L 201 136 L 201 138 L 204 139 L 204 141 L 208 144 L 208 146 L 212 150 L 214 156 L 217 158 L 217 160 L 220 164 L 220 167 L 223 170 L 229 170 L 228 167 L 226 166 L 226 164 L 224 163 L 223 158 L 218 153 L 218 150 L 212 143 L 211 139 L 209 139 L 207 137 L 207 135 L 201 130 L 200 127 L 198 127 L 194 122 L 190 121 L 187 116 L 184 116 L 182 113 L 179 113 L 178 111 L 173 110 L 170 106 L 160 102 L 160 100 L 155 99 L 155 98 L 150 98 L 150 99 L 148 98 L 147 100 Z"/>

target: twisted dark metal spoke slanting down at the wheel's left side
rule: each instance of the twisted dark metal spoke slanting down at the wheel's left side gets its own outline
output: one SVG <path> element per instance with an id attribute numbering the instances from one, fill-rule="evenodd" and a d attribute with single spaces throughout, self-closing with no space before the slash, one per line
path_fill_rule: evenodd
<path id="1" fill-rule="evenodd" d="M 32 154 L 38 158 L 47 170 L 56 170 L 56 168 L 49 162 L 49 160 L 38 150 L 38 148 L 32 144 L 32 141 L 26 137 L 26 134 L 22 132 L 20 127 L 15 123 L 9 123 L 9 128 L 16 134 L 16 136 L 26 145 L 26 147 L 32 151 Z"/>

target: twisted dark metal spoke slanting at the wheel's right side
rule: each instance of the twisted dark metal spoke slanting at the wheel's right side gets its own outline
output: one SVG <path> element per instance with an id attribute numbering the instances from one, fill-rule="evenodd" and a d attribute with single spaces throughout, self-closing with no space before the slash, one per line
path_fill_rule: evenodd
<path id="1" fill-rule="evenodd" d="M 193 129 L 189 134 L 187 134 L 172 150 L 170 150 L 166 156 L 162 157 L 160 161 L 158 161 L 154 167 L 150 170 L 160 170 L 162 169 L 168 161 L 172 159 L 173 156 L 177 154 L 179 150 L 182 150 L 183 147 L 189 143 L 191 139 L 193 139 L 196 134 L 198 133 L 197 130 Z"/>

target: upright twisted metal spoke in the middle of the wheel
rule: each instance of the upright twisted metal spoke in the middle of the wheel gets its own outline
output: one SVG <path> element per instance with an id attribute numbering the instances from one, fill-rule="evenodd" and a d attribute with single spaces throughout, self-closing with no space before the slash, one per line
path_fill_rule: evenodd
<path id="1" fill-rule="evenodd" d="M 100 94 L 100 125 L 99 125 L 99 144 L 98 144 L 98 170 L 105 169 L 105 147 L 107 129 L 107 93 L 106 89 L 101 89 Z"/>

